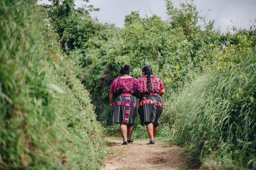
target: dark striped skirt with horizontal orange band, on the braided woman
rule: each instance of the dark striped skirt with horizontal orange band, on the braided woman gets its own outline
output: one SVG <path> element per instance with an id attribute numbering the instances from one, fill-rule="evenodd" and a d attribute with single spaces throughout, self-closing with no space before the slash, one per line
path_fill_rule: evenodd
<path id="1" fill-rule="evenodd" d="M 158 119 L 163 111 L 163 100 L 160 96 L 145 96 L 140 98 L 138 112 L 141 125 L 153 123 L 158 126 Z"/>

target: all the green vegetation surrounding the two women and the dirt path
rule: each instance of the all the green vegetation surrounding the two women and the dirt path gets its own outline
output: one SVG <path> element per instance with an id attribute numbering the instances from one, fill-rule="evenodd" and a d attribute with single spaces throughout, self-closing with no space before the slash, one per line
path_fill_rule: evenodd
<path id="1" fill-rule="evenodd" d="M 0 169 L 99 169 L 96 117 L 119 134 L 108 90 L 126 63 L 137 78 L 151 65 L 165 85 L 157 139 L 186 146 L 206 169 L 256 168 L 255 26 L 221 33 L 192 1 L 166 0 L 167 21 L 131 11 L 116 28 L 90 17 L 93 6 L 51 2 L 0 7 Z M 135 121 L 133 138 L 147 138 Z"/>

